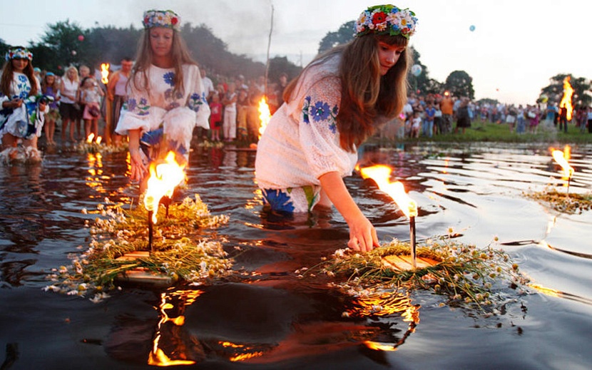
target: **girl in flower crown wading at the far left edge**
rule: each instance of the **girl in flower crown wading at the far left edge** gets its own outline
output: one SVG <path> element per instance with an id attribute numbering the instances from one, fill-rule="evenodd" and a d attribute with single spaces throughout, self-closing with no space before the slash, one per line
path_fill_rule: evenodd
<path id="1" fill-rule="evenodd" d="M 17 159 L 19 141 L 25 147 L 22 159 L 39 162 L 37 138 L 41 136 L 48 101 L 41 95 L 34 76 L 33 53 L 22 46 L 9 48 L 0 80 L 0 138 L 9 160 Z"/>

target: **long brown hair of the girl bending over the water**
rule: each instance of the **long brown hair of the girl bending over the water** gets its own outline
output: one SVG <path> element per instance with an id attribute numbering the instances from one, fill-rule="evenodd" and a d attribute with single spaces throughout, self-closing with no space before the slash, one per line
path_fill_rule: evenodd
<path id="1" fill-rule="evenodd" d="M 407 70 L 411 55 L 405 48 L 397 63 L 386 75 L 381 76 L 378 56 L 378 43 L 381 41 L 393 46 L 407 46 L 409 42 L 400 35 L 368 34 L 317 56 L 309 64 L 321 63 L 338 53 L 342 55 L 337 130 L 340 133 L 340 146 L 344 150 L 353 151 L 354 145 L 363 143 L 379 125 L 401 113 L 407 101 Z M 297 81 L 307 68 L 286 87 L 285 101 L 289 101 Z"/>

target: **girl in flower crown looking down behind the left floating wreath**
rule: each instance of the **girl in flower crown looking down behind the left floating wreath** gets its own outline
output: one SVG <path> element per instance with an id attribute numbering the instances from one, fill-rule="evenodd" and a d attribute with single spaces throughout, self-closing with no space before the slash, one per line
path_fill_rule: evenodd
<path id="1" fill-rule="evenodd" d="M 128 101 L 116 128 L 129 137 L 131 179 L 141 182 L 148 163 L 169 150 L 178 163 L 187 163 L 193 128 L 209 128 L 210 116 L 198 65 L 179 33 L 180 17 L 170 10 L 149 10 L 143 25 Z"/>

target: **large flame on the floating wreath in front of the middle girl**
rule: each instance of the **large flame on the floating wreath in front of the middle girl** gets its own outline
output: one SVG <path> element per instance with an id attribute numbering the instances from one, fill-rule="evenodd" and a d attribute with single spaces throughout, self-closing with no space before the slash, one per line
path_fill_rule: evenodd
<path id="1" fill-rule="evenodd" d="M 175 152 L 166 155 L 165 163 L 151 163 L 148 187 L 144 195 L 146 210 L 153 211 L 152 221 L 156 223 L 158 203 L 164 196 L 173 195 L 175 187 L 185 180 L 185 165 L 181 166 L 175 160 Z"/>

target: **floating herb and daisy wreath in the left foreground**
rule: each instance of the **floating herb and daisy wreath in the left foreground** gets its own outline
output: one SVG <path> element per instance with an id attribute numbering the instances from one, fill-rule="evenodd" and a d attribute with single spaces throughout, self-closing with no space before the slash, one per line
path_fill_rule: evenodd
<path id="1" fill-rule="evenodd" d="M 168 216 L 167 216 L 168 212 Z M 88 214 L 86 210 L 83 213 Z M 71 254 L 70 266 L 53 269 L 48 276 L 52 284 L 44 290 L 86 296 L 100 302 L 106 292 L 115 287 L 119 274 L 132 269 L 144 269 L 165 274 L 173 281 L 182 279 L 200 284 L 207 279 L 224 277 L 230 272 L 232 260 L 222 244 L 203 237 L 203 229 L 215 229 L 228 223 L 226 215 L 210 215 L 208 206 L 200 200 L 186 197 L 173 203 L 168 210 L 158 208 L 158 223 L 153 227 L 153 253 L 132 260 L 118 260 L 128 252 L 146 250 L 148 246 L 148 211 L 141 203 L 126 210 L 121 204 L 106 199 L 95 212 L 90 226 L 91 242 L 88 250 Z"/>

